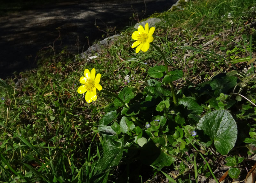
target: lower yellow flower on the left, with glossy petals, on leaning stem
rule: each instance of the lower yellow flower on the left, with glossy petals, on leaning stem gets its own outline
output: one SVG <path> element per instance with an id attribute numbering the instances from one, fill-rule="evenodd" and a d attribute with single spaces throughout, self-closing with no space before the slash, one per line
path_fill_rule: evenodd
<path id="1" fill-rule="evenodd" d="M 80 83 L 84 85 L 79 86 L 77 92 L 80 94 L 86 92 L 85 100 L 86 102 L 90 103 L 92 102 L 92 100 L 95 101 L 97 99 L 96 88 L 99 91 L 102 90 L 102 86 L 99 84 L 101 75 L 97 74 L 97 76 L 95 77 L 95 68 L 93 68 L 91 70 L 91 73 L 88 69 L 85 69 L 84 76 L 80 77 L 79 79 Z"/>

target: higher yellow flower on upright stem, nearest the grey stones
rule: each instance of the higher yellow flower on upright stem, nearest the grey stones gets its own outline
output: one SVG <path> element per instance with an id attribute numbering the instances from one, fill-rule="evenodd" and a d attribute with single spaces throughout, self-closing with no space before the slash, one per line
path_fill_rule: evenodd
<path id="1" fill-rule="evenodd" d="M 144 28 L 140 25 L 138 27 L 138 31 L 132 33 L 132 39 L 137 40 L 132 44 L 132 48 L 138 46 L 135 50 L 136 53 L 139 53 L 140 49 L 142 52 L 147 52 L 149 48 L 149 43 L 153 41 L 152 34 L 154 33 L 155 28 L 151 27 L 148 31 L 148 23 Z"/>

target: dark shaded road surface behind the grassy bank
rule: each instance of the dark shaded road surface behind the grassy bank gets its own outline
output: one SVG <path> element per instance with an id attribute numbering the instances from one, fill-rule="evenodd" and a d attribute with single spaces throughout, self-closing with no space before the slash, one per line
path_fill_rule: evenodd
<path id="1" fill-rule="evenodd" d="M 118 33 L 154 12 L 168 10 L 177 0 L 80 0 L 7 13 L 0 17 L 0 78 L 36 67 L 36 53 L 55 42 L 55 49 L 68 46 L 81 53 L 89 43 Z M 144 12 L 143 12 L 144 11 Z M 142 17 L 142 15 L 144 16 Z M 98 28 L 95 26 L 98 26 Z M 59 28 L 59 29 L 57 29 Z M 59 31 L 58 31 L 59 30 Z M 102 35 L 104 35 L 102 37 Z M 88 39 L 87 39 L 88 38 Z"/>

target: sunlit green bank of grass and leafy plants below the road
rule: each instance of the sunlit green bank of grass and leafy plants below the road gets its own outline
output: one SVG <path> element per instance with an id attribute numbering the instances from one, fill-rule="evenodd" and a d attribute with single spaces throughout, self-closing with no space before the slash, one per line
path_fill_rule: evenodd
<path id="1" fill-rule="evenodd" d="M 127 28 L 95 59 L 44 50 L 0 80 L 0 182 L 250 182 L 256 2 L 180 3 L 153 15 L 146 52 Z M 87 103 L 92 68 L 103 90 Z"/>

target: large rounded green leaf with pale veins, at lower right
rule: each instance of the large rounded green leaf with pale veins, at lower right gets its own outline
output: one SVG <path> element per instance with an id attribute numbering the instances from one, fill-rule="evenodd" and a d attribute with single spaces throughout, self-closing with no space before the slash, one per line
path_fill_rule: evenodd
<path id="1" fill-rule="evenodd" d="M 203 130 L 204 134 L 210 137 L 210 142 L 214 141 L 214 146 L 222 155 L 235 146 L 237 139 L 236 121 L 226 110 L 212 111 L 202 117 L 198 124 L 198 130 Z"/>

